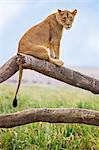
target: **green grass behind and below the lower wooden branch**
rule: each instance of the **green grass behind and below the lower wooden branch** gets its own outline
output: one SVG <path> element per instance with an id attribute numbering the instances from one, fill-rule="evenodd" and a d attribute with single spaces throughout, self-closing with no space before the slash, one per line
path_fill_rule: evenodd
<path id="1" fill-rule="evenodd" d="M 99 111 L 99 96 L 72 87 L 22 86 L 12 107 L 15 86 L 0 86 L 0 113 L 30 108 L 86 108 Z M 0 129 L 0 150 L 99 150 L 99 127 L 32 123 Z"/>

